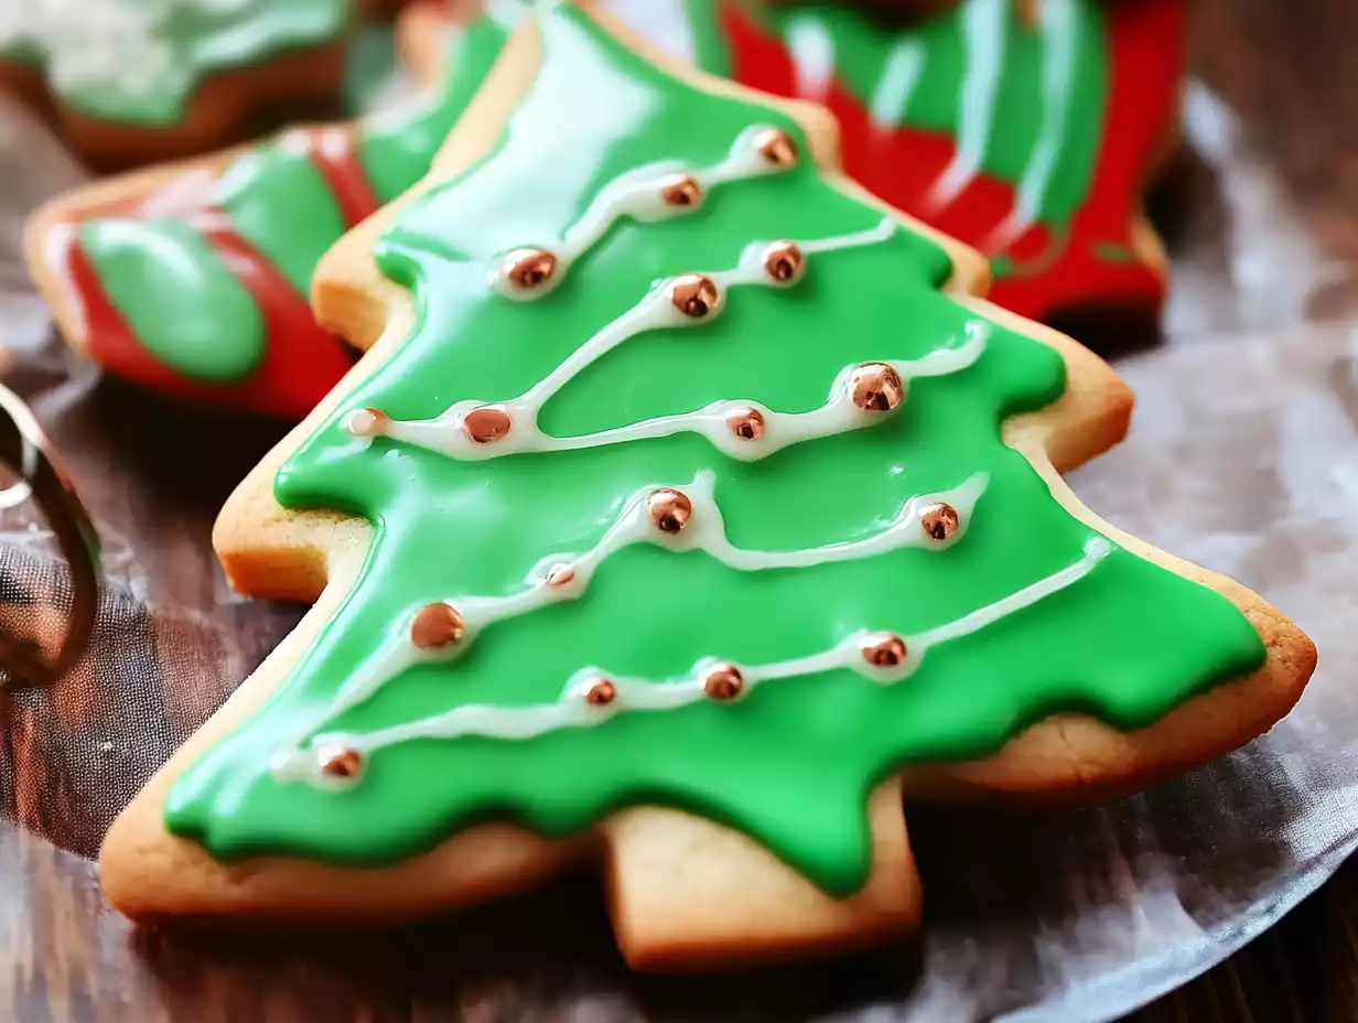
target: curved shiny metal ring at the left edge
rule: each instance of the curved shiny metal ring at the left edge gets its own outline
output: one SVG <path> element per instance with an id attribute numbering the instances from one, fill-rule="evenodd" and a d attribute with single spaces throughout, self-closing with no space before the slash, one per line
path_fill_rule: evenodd
<path id="1" fill-rule="evenodd" d="M 71 568 L 71 614 L 54 656 L 45 656 L 34 640 L 0 633 L 0 667 L 10 682 L 49 685 L 90 645 L 99 611 L 99 535 L 38 421 L 5 387 L 0 387 L 0 462 L 20 477 L 0 490 L 0 508 L 37 501 Z"/>

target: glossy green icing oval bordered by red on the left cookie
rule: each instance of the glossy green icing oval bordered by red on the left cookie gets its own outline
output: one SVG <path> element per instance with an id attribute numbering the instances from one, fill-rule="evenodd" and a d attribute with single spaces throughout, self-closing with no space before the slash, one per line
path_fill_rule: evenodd
<path id="1" fill-rule="evenodd" d="M 113 306 L 162 363 L 187 376 L 231 383 L 263 357 L 254 299 L 178 220 L 90 220 L 80 245 Z M 147 281 L 156 280 L 155 292 Z"/>

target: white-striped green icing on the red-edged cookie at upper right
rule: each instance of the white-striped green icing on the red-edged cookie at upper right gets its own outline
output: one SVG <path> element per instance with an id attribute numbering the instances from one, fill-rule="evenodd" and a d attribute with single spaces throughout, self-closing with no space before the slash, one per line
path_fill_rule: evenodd
<path id="1" fill-rule="evenodd" d="M 689 4 L 710 18 L 714 4 L 731 1 Z M 1010 0 L 963 0 L 903 31 L 883 31 L 851 5 L 746 7 L 794 58 L 799 49 L 830 53 L 838 79 L 888 124 L 956 140 L 961 156 L 1013 183 L 1020 204 L 1052 230 L 1089 193 L 1108 90 L 1100 0 L 1043 0 L 1036 26 Z"/>

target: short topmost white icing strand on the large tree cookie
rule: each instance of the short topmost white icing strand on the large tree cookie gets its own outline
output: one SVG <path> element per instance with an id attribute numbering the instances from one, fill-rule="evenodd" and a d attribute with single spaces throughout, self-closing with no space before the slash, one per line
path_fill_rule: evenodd
<path id="1" fill-rule="evenodd" d="M 718 185 L 732 181 L 748 181 L 789 170 L 786 164 L 767 160 L 759 152 L 758 139 L 771 130 L 769 125 L 754 125 L 743 130 L 731 147 L 727 159 L 713 167 L 689 170 L 680 163 L 655 163 L 637 167 L 614 181 L 600 192 L 589 208 L 572 224 L 559 243 L 550 246 L 557 257 L 555 272 L 542 285 L 531 289 L 515 288 L 502 273 L 497 261 L 488 270 L 490 285 L 504 298 L 531 302 L 546 295 L 565 280 L 581 255 L 599 243 L 618 220 L 631 217 L 640 224 L 669 220 L 701 208 L 706 193 Z M 675 175 L 687 174 L 701 189 L 701 196 L 693 205 L 674 205 L 664 198 L 664 186 Z"/>

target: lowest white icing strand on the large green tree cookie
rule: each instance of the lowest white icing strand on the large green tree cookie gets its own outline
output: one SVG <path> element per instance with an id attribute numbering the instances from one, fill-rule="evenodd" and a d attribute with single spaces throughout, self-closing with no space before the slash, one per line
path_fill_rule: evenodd
<path id="1" fill-rule="evenodd" d="M 1111 550 L 1112 545 L 1107 539 L 1103 537 L 1095 538 L 1085 545 L 1085 553 L 1080 561 L 1059 572 L 980 607 L 955 622 L 928 629 L 914 636 L 906 636 L 907 656 L 900 664 L 894 667 L 877 667 L 868 663 L 862 655 L 862 648 L 877 633 L 858 632 L 828 651 L 812 653 L 807 658 L 796 658 L 771 664 L 736 666 L 744 681 L 744 692 L 748 693 L 765 682 L 819 675 L 826 671 L 845 668 L 884 685 L 900 682 L 914 674 L 928 651 L 933 647 L 970 636 L 1010 614 L 1016 614 L 1025 607 L 1044 600 L 1052 594 L 1066 590 L 1088 576 Z M 687 678 L 676 682 L 618 678 L 599 668 L 584 668 L 568 682 L 562 697 L 553 704 L 539 704 L 535 706 L 471 704 L 455 708 L 444 715 L 363 735 L 331 734 L 322 736 L 322 739 L 359 753 L 372 753 L 373 750 L 416 739 L 458 739 L 463 736 L 531 739 L 561 728 L 602 724 L 619 713 L 669 711 L 702 702 L 709 698 L 703 687 L 703 675 L 705 668 L 710 666 L 712 662 L 703 662 L 695 666 Z M 608 704 L 595 706 L 584 700 L 584 692 L 600 677 L 608 678 L 612 682 L 615 697 Z M 306 778 L 314 784 L 344 784 L 344 781 L 337 783 L 320 774 L 314 758 L 300 750 L 289 751 L 287 755 L 276 758 L 274 773 L 280 778 Z"/>

